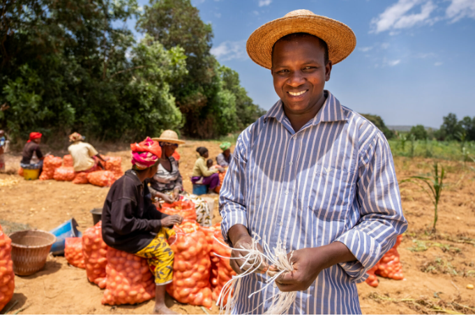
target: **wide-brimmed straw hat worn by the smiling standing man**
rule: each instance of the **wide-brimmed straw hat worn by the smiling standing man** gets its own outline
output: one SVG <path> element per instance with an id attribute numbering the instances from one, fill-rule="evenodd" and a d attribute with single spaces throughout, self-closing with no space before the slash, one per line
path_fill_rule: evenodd
<path id="1" fill-rule="evenodd" d="M 246 50 L 250 59 L 259 66 L 271 69 L 273 45 L 292 33 L 309 33 L 322 38 L 329 47 L 329 59 L 333 65 L 347 58 L 356 47 L 356 36 L 342 22 L 309 10 L 295 10 L 262 25 L 249 36 Z"/>

